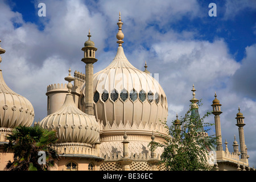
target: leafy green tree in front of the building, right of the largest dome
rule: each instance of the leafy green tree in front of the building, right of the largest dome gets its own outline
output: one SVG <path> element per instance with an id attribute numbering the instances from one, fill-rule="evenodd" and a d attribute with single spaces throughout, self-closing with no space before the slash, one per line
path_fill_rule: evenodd
<path id="1" fill-rule="evenodd" d="M 197 104 L 201 106 L 201 104 Z M 191 108 L 191 107 L 190 107 Z M 179 127 L 175 127 L 175 121 L 167 126 L 170 131 L 166 142 L 155 143 L 154 148 L 163 147 L 160 163 L 171 171 L 196 171 L 212 170 L 213 166 L 208 164 L 208 152 L 216 148 L 215 135 L 204 135 L 213 125 L 204 123 L 204 119 L 212 114 L 208 111 L 203 117 L 195 114 L 197 108 L 188 110 L 183 118 L 180 118 Z M 166 124 L 166 121 L 164 122 Z M 176 129 L 175 129 L 176 128 Z M 207 129 L 207 130 L 205 130 Z"/>

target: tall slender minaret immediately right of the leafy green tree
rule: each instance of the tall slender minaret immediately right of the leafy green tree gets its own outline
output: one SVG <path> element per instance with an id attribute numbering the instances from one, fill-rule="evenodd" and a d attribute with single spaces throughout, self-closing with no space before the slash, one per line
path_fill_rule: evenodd
<path id="1" fill-rule="evenodd" d="M 214 122 L 215 122 L 215 132 L 217 138 L 217 150 L 222 151 L 222 137 L 221 137 L 221 124 L 220 124 L 220 114 L 221 112 L 221 104 L 217 99 L 217 95 L 215 92 L 214 100 L 212 101 L 212 113 L 214 114 Z"/>

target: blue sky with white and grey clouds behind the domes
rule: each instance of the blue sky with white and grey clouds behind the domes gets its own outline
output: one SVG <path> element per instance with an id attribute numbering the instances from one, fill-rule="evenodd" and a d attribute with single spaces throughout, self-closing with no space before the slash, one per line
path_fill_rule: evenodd
<path id="1" fill-rule="evenodd" d="M 46 17 L 38 4 L 46 4 Z M 210 17 L 209 3 L 217 16 Z M 238 139 L 236 113 L 245 115 L 245 141 L 250 166 L 256 164 L 256 1 L 3 1 L 0 39 L 6 49 L 1 69 L 7 85 L 28 98 L 35 120 L 47 115 L 46 87 L 84 71 L 81 48 L 90 28 L 98 62 L 94 72 L 114 59 L 118 13 L 127 59 L 159 73 L 168 100 L 168 122 L 183 115 L 192 98 L 202 98 L 200 113 L 211 110 L 214 91 L 222 104 L 222 139 L 233 151 Z M 55 69 L 58 68 L 58 69 Z M 209 122 L 214 122 L 210 117 Z M 225 147 L 225 145 L 223 145 Z"/>

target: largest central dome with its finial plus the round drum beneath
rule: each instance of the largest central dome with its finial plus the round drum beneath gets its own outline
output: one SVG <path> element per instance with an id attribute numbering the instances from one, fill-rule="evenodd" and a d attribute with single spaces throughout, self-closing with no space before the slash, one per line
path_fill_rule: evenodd
<path id="1" fill-rule="evenodd" d="M 130 154 L 150 154 L 148 144 L 152 131 L 156 142 L 163 141 L 162 135 L 168 134 L 162 123 L 168 115 L 166 94 L 149 72 L 135 68 L 127 60 L 122 47 L 124 35 L 120 14 L 117 24 L 117 54 L 108 67 L 93 76 L 94 115 L 103 123 L 101 152 L 104 155 L 122 153 L 123 134 L 126 132 Z M 79 98 L 82 111 L 85 110 L 84 98 L 85 84 L 81 86 Z M 156 152 L 160 154 L 162 148 Z"/>

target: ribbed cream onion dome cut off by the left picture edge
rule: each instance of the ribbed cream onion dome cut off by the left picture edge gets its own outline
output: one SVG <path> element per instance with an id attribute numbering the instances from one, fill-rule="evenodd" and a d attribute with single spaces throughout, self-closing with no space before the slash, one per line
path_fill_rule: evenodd
<path id="1" fill-rule="evenodd" d="M 0 47 L 1 53 L 5 53 L 5 49 Z M 0 57 L 0 63 L 1 61 L 2 58 Z M 31 126 L 33 121 L 34 108 L 32 104 L 6 85 L 0 69 L 0 127 Z"/>

